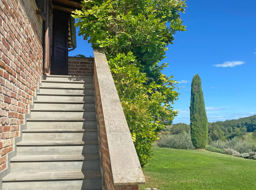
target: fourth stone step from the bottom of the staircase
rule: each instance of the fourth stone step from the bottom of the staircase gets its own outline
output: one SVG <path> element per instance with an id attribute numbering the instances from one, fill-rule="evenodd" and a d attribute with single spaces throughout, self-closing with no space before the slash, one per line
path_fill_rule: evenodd
<path id="1" fill-rule="evenodd" d="M 25 129 L 22 140 L 97 140 L 97 129 Z"/>

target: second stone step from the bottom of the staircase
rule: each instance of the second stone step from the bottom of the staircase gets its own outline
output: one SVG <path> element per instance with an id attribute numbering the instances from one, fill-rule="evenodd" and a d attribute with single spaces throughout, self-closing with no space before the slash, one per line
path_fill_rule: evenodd
<path id="1" fill-rule="evenodd" d="M 18 155 L 10 168 L 11 172 L 99 170 L 99 155 L 87 155 Z"/>

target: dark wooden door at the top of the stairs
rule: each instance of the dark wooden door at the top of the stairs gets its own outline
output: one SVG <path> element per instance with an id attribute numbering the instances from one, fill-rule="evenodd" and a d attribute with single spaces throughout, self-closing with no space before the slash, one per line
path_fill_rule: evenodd
<path id="1" fill-rule="evenodd" d="M 69 13 L 53 10 L 53 64 L 51 74 L 68 74 Z"/>

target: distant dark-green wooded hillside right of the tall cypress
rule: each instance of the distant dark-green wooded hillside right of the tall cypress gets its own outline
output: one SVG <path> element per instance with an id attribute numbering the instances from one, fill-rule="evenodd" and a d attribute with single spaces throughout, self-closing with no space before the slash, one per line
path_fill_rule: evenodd
<path id="1" fill-rule="evenodd" d="M 212 124 L 219 125 L 224 135 L 228 138 L 232 138 L 256 130 L 256 115 L 234 120 L 217 121 Z"/>

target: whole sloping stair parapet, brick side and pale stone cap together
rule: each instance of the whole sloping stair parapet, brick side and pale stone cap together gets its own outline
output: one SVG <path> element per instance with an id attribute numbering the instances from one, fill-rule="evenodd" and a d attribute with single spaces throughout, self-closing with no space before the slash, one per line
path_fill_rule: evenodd
<path id="1" fill-rule="evenodd" d="M 145 178 L 106 56 L 94 50 L 94 82 L 100 151 L 107 190 L 138 190 Z"/>

